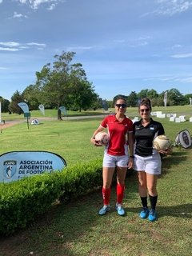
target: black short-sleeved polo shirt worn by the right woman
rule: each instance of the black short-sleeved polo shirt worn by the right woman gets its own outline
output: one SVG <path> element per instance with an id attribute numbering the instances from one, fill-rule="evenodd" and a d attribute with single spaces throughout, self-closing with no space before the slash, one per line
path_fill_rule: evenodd
<path id="1" fill-rule="evenodd" d="M 135 154 L 142 157 L 152 155 L 154 138 L 162 134 L 165 134 L 165 131 L 161 122 L 154 121 L 152 118 L 145 127 L 142 126 L 142 119 L 134 122 Z"/>

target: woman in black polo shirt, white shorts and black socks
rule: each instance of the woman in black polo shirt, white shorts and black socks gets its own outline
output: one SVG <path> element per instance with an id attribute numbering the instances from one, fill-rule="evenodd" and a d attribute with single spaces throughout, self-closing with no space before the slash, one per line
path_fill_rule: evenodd
<path id="1" fill-rule="evenodd" d="M 134 122 L 135 154 L 134 170 L 138 172 L 138 193 L 142 201 L 141 218 L 153 222 L 157 218 L 155 207 L 158 200 L 157 181 L 161 174 L 160 154 L 170 154 L 171 149 L 157 151 L 153 147 L 154 138 L 165 134 L 160 122 L 150 118 L 151 103 L 149 98 L 143 98 L 138 106 L 141 120 Z M 147 206 L 147 194 L 150 198 L 150 210 Z"/>

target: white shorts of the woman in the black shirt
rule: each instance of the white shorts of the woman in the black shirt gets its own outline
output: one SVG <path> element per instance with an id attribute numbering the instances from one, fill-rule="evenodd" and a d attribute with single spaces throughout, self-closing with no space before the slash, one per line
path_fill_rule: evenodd
<path id="1" fill-rule="evenodd" d="M 161 174 L 162 160 L 160 154 L 155 153 L 149 157 L 134 155 L 134 170 L 145 171 L 147 174 Z"/>

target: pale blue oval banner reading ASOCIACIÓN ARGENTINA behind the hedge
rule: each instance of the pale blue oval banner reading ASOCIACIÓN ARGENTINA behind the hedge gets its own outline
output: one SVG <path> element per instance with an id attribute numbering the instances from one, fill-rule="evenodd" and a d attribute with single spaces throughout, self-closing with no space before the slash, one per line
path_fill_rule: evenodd
<path id="1" fill-rule="evenodd" d="M 0 155 L 0 182 L 13 182 L 65 167 L 66 161 L 60 155 L 48 151 L 11 151 Z"/>

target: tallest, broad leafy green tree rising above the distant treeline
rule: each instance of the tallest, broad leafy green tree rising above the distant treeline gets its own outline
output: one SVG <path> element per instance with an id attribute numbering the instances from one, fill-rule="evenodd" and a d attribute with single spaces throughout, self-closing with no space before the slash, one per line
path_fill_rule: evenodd
<path id="1" fill-rule="evenodd" d="M 38 100 L 45 105 L 57 106 L 58 119 L 61 119 L 60 106 L 82 110 L 90 106 L 91 98 L 95 98 L 94 89 L 86 80 L 86 72 L 82 69 L 82 64 L 72 63 L 74 54 L 74 52 L 62 52 L 61 55 L 55 55 L 56 61 L 52 67 L 48 63 L 40 72 L 36 72 Z"/>

